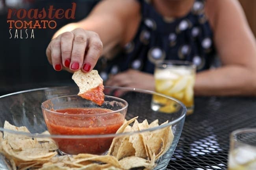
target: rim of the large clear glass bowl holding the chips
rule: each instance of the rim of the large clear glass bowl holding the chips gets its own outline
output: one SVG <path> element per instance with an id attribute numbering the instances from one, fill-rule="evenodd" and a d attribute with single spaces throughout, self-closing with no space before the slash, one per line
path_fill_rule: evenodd
<path id="1" fill-rule="evenodd" d="M 49 90 L 49 89 L 53 89 L 53 88 L 70 88 L 70 86 L 45 87 L 45 88 L 35 88 L 35 89 L 30 89 L 30 90 L 17 91 L 14 93 L 2 95 L 2 96 L 0 96 L 0 99 L 3 97 L 8 97 L 8 96 L 16 95 L 16 94 L 20 94 L 20 93 L 28 93 L 28 92 L 39 91 L 39 90 Z M 42 134 L 42 133 L 17 132 L 14 130 L 4 129 L 2 127 L 0 127 L 0 132 L 7 132 L 7 133 L 16 134 L 16 135 L 24 135 L 24 136 L 32 137 L 32 138 L 52 138 L 52 139 L 56 139 L 56 138 L 59 138 L 59 139 L 108 138 L 108 137 L 121 137 L 124 135 L 134 135 L 134 134 L 138 134 L 138 133 L 152 132 L 155 130 L 160 130 L 160 129 L 168 127 L 168 126 L 172 126 L 173 124 L 176 124 L 177 122 L 182 121 L 182 119 L 185 120 L 185 118 L 186 118 L 186 112 L 187 112 L 186 106 L 179 100 L 174 99 L 173 97 L 158 93 L 156 91 L 144 90 L 141 88 L 128 88 L 128 87 L 119 87 L 119 86 L 104 86 L 104 88 L 105 89 L 112 88 L 112 89 L 135 91 L 135 92 L 140 92 L 140 93 L 147 93 L 147 94 L 152 94 L 152 95 L 159 95 L 161 97 L 166 97 L 167 99 L 171 99 L 171 100 L 177 102 L 178 104 L 180 104 L 180 106 L 182 106 L 182 113 L 181 113 L 180 117 L 178 117 L 177 119 L 175 119 L 173 121 L 168 122 L 167 124 L 162 124 L 157 127 L 148 128 L 145 130 L 135 131 L 135 132 L 109 133 L 109 134 L 100 134 L 100 135 L 50 135 L 50 134 Z"/>

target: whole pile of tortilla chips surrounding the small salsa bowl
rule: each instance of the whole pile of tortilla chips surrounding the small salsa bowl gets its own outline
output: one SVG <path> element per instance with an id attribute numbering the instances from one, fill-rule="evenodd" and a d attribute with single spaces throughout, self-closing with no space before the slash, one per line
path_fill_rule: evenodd
<path id="1" fill-rule="evenodd" d="M 133 125 L 130 126 L 133 122 Z M 163 124 L 166 124 L 164 122 Z M 137 117 L 125 121 L 117 133 L 141 131 L 159 126 L 158 120 L 139 123 Z M 29 132 L 24 126 L 16 127 L 5 122 L 5 129 Z M 47 133 L 47 132 L 44 132 Z M 78 154 L 57 155 L 58 147 L 52 139 L 39 139 L 0 132 L 0 153 L 13 170 L 151 170 L 156 160 L 171 146 L 171 126 L 152 132 L 134 133 L 115 137 L 107 155 Z"/>

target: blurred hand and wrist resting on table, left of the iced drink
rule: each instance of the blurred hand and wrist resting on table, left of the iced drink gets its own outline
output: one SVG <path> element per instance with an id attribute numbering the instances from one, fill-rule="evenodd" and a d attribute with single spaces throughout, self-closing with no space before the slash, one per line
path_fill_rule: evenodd
<path id="1" fill-rule="evenodd" d="M 129 69 L 128 71 L 110 77 L 106 85 L 154 90 L 155 82 L 152 74 Z"/>

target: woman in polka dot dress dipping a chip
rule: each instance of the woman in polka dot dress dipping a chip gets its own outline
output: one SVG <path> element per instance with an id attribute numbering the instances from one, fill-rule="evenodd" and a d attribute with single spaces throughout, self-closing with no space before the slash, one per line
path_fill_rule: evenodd
<path id="1" fill-rule="evenodd" d="M 222 66 L 209 69 L 216 52 Z M 98 64 L 107 85 L 148 90 L 156 60 L 191 60 L 196 95 L 256 95 L 255 39 L 236 0 L 104 0 L 62 27 L 46 55 L 57 71 L 84 72 L 105 56 L 110 62 Z"/>

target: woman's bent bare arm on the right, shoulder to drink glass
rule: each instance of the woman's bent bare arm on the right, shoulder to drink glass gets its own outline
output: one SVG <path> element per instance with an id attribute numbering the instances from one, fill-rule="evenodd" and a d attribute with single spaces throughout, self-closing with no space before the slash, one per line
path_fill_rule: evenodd
<path id="1" fill-rule="evenodd" d="M 256 43 L 236 0 L 208 0 L 206 15 L 223 66 L 197 74 L 196 95 L 256 95 Z"/>

